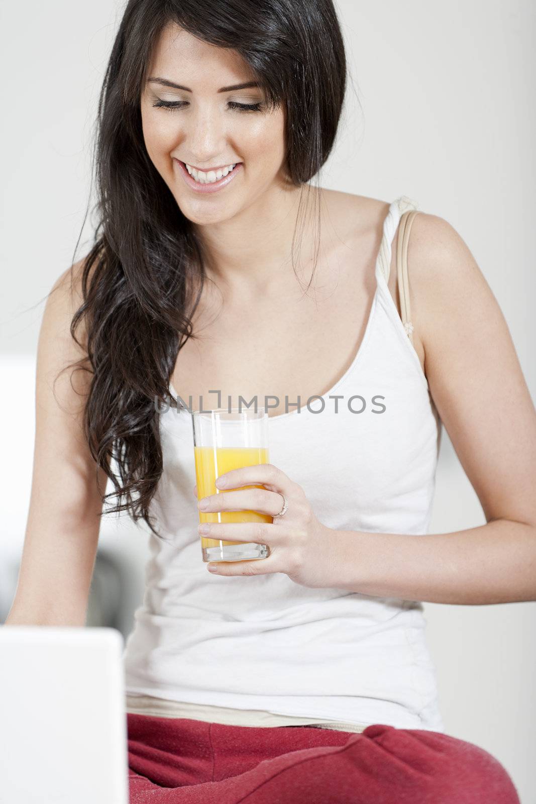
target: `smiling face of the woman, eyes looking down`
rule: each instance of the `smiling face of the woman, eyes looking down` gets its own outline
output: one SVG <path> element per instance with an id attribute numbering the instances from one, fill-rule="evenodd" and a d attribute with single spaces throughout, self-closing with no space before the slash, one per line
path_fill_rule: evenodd
<path id="1" fill-rule="evenodd" d="M 231 219 L 284 184 L 284 110 L 269 112 L 258 86 L 238 88 L 252 81 L 235 51 L 176 25 L 154 48 L 141 94 L 145 147 L 196 224 Z"/>

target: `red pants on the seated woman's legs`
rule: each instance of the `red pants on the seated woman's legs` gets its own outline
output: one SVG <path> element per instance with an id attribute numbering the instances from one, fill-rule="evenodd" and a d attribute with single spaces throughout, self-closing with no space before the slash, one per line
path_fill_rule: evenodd
<path id="1" fill-rule="evenodd" d="M 519 804 L 499 761 L 438 732 L 127 724 L 130 804 Z"/>

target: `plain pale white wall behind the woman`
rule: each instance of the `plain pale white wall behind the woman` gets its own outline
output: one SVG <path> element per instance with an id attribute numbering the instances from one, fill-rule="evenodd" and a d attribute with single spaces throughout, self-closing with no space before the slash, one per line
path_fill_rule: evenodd
<path id="1" fill-rule="evenodd" d="M 339 0 L 338 9 L 353 84 L 321 183 L 409 195 L 448 219 L 504 311 L 534 398 L 534 4 Z M 72 262 L 88 203 L 96 96 L 120 15 L 113 0 L 2 7 L 0 585 L 27 515 L 43 299 Z M 444 433 L 431 532 L 484 523 Z M 102 544 L 132 565 L 137 605 L 144 535 L 123 521 L 117 533 L 103 528 Z M 523 804 L 534 802 L 536 604 L 425 608 L 447 732 L 493 753 Z"/>

